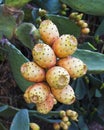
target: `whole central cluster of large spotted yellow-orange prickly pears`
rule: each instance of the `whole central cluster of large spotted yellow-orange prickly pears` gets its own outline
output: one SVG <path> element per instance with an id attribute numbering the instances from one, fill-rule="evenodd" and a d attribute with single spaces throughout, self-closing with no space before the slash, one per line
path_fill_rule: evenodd
<path id="1" fill-rule="evenodd" d="M 77 49 L 73 35 L 59 36 L 57 26 L 51 20 L 44 20 L 39 26 L 41 40 L 32 49 L 33 61 L 21 66 L 22 76 L 34 85 L 24 93 L 27 103 L 35 103 L 37 111 L 47 114 L 58 102 L 72 104 L 75 93 L 69 85 L 70 78 L 86 74 L 87 67 L 71 55 Z"/>

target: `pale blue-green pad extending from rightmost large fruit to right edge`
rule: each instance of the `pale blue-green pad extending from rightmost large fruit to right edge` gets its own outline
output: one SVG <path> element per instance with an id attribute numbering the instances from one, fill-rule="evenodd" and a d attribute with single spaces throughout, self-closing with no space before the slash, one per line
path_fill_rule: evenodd
<path id="1" fill-rule="evenodd" d="M 104 54 L 77 49 L 74 57 L 81 59 L 88 67 L 88 73 L 104 73 Z"/>

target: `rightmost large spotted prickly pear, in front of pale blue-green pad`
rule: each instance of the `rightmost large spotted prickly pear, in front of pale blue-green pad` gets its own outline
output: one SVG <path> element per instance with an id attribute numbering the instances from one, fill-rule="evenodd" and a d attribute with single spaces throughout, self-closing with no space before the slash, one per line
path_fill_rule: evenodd
<path id="1" fill-rule="evenodd" d="M 86 64 L 84 64 L 82 60 L 72 56 L 59 59 L 59 61 L 57 61 L 57 64 L 65 68 L 71 78 L 79 78 L 85 75 L 87 72 Z"/>

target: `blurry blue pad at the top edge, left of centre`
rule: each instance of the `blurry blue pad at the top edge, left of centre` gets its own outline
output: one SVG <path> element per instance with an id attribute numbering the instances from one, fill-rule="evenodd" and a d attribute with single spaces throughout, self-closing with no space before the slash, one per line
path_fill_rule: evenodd
<path id="1" fill-rule="evenodd" d="M 59 0 L 35 0 L 34 3 L 53 14 L 58 13 L 61 8 Z"/>

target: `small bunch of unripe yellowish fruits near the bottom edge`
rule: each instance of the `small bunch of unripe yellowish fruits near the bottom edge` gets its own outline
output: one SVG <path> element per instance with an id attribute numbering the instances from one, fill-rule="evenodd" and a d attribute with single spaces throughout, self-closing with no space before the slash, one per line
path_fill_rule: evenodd
<path id="1" fill-rule="evenodd" d="M 60 130 L 61 128 L 63 130 L 68 130 L 69 126 L 71 125 L 71 122 L 69 121 L 69 119 L 73 120 L 73 121 L 78 121 L 78 113 L 76 111 L 73 110 L 61 110 L 60 111 L 60 117 L 62 118 L 62 121 L 59 123 L 54 123 L 53 124 L 53 128 L 54 130 Z"/>

